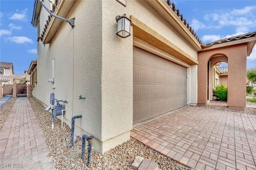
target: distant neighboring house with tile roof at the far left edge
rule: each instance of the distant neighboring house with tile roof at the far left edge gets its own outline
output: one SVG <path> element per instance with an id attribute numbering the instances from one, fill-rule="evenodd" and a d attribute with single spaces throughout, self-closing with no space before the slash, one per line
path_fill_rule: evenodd
<path id="1" fill-rule="evenodd" d="M 12 85 L 13 74 L 14 70 L 12 63 L 0 62 L 0 82 L 2 83 L 2 85 Z"/>

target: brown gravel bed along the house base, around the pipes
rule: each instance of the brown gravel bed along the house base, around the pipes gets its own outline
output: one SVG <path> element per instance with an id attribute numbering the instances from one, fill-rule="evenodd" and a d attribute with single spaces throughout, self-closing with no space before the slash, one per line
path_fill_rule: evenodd
<path id="1" fill-rule="evenodd" d="M 45 111 L 41 105 L 33 97 L 28 97 L 36 117 L 38 118 L 39 126 L 42 128 L 46 142 L 50 148 L 49 156 L 52 157 L 56 169 L 92 169 L 92 170 L 130 170 L 130 166 L 136 156 L 142 156 L 158 163 L 159 169 L 167 170 L 188 170 L 190 168 L 179 164 L 155 152 L 154 150 L 144 146 L 137 140 L 130 138 L 127 142 L 116 146 L 115 148 L 99 154 L 96 151 L 92 152 L 92 163 L 86 166 L 87 153 L 85 158 L 81 159 L 81 141 L 78 136 L 74 140 L 74 145 L 70 148 L 70 128 L 61 121 L 54 118 L 54 129 L 51 127 L 50 113 Z"/>

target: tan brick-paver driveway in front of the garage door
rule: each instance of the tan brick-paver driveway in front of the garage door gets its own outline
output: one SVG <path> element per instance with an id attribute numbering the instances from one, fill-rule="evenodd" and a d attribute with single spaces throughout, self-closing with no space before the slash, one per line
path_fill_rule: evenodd
<path id="1" fill-rule="evenodd" d="M 198 170 L 256 169 L 256 116 L 188 106 L 134 127 L 131 136 Z"/>

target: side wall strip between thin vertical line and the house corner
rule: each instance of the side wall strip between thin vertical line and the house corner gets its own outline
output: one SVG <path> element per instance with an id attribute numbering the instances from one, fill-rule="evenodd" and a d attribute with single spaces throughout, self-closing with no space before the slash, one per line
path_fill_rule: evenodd
<path id="1" fill-rule="evenodd" d="M 82 1 L 74 8 L 74 14 L 69 16 L 76 17 L 73 115 L 81 114 L 77 125 L 102 141 L 101 1 Z M 86 99 L 79 99 L 80 95 Z"/>

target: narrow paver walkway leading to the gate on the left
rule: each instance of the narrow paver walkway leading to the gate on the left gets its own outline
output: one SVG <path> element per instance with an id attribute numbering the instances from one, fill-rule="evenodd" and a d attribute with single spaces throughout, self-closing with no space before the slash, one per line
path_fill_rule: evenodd
<path id="1" fill-rule="evenodd" d="M 31 104 L 18 97 L 0 131 L 0 169 L 52 169 L 49 151 Z"/>

